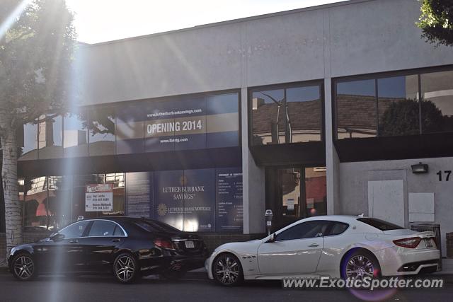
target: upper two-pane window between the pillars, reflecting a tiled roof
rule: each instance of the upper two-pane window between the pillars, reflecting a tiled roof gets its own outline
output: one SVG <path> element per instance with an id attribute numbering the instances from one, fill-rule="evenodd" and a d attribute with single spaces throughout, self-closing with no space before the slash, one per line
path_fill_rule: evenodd
<path id="1" fill-rule="evenodd" d="M 255 88 L 251 93 L 252 144 L 321 141 L 321 85 Z"/>

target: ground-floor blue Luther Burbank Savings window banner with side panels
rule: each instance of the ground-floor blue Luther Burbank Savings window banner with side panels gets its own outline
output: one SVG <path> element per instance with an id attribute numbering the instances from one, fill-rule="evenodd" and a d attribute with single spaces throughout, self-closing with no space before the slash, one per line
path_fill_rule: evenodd
<path id="1" fill-rule="evenodd" d="M 241 168 L 126 173 L 126 214 L 183 231 L 240 232 Z"/>

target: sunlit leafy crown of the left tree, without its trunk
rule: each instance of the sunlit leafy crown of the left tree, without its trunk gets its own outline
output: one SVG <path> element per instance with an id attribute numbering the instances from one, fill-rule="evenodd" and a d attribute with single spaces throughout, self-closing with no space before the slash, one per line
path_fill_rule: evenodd
<path id="1" fill-rule="evenodd" d="M 1 16 L 11 16 L 20 3 L 3 0 Z M 8 113 L 12 128 L 67 106 L 75 40 L 72 19 L 64 1 L 33 0 L 4 34 L 0 42 L 0 110 Z"/>

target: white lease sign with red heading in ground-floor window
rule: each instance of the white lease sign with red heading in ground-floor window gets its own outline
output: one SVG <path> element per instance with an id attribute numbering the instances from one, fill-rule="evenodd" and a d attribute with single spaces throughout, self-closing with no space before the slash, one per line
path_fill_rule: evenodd
<path id="1" fill-rule="evenodd" d="M 85 186 L 85 211 L 113 211 L 113 184 Z"/>

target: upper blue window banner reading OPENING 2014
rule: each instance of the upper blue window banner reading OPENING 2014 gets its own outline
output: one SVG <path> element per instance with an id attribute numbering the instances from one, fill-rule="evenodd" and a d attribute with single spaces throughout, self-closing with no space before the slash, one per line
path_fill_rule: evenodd
<path id="1" fill-rule="evenodd" d="M 239 94 L 142 101 L 117 112 L 117 153 L 239 146 Z"/>

